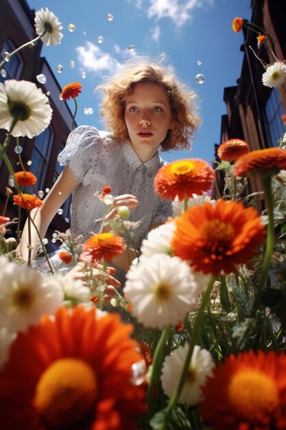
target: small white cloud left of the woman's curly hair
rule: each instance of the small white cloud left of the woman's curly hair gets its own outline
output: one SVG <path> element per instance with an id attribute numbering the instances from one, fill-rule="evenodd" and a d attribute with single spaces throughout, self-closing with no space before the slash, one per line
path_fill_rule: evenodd
<path id="1" fill-rule="evenodd" d="M 120 67 L 116 58 L 103 52 L 92 42 L 86 42 L 85 46 L 78 46 L 75 50 L 78 53 L 78 61 L 84 70 L 102 73 L 103 71 L 113 72 Z"/>

